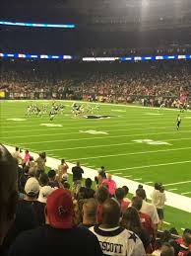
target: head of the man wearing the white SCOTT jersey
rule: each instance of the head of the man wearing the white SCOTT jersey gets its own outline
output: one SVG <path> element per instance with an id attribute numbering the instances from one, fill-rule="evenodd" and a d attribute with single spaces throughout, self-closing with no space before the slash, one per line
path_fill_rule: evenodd
<path id="1" fill-rule="evenodd" d="M 117 226 L 120 218 L 120 206 L 115 199 L 107 199 L 102 205 L 102 224 Z"/>

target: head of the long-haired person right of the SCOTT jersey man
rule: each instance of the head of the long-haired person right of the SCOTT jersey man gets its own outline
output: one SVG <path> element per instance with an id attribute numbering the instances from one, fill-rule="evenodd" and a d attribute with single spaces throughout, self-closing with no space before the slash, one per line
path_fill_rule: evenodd
<path id="1" fill-rule="evenodd" d="M 141 229 L 140 217 L 135 208 L 126 209 L 122 216 L 121 225 L 134 232 Z"/>

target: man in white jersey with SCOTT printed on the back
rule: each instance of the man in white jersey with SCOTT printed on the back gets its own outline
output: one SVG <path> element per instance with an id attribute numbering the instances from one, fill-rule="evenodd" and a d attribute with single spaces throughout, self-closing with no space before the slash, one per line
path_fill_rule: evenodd
<path id="1" fill-rule="evenodd" d="M 119 225 L 120 206 L 115 199 L 103 203 L 102 223 L 90 228 L 98 238 L 104 255 L 145 256 L 140 238 Z"/>

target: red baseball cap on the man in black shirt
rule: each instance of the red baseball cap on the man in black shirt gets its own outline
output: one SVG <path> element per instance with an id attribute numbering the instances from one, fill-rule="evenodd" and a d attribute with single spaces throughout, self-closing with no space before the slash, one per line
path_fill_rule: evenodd
<path id="1" fill-rule="evenodd" d="M 73 202 L 71 193 L 64 189 L 53 191 L 46 203 L 49 224 L 55 228 L 73 227 Z"/>

